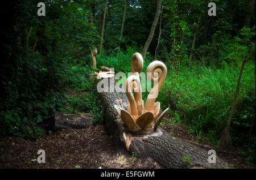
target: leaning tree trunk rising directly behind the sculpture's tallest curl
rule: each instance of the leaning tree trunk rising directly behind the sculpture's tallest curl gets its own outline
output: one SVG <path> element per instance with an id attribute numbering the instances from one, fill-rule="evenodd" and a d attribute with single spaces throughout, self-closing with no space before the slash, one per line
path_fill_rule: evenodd
<path id="1" fill-rule="evenodd" d="M 154 36 L 154 33 L 155 33 L 155 28 L 156 28 L 156 25 L 158 24 L 158 19 L 159 19 L 160 11 L 161 11 L 161 0 L 158 0 L 158 3 L 156 5 L 155 19 L 154 19 L 154 22 L 153 22 L 152 27 L 150 29 L 150 35 L 148 36 L 147 41 L 146 41 L 146 43 L 145 43 L 145 45 L 143 47 L 143 50 L 142 50 L 142 57 L 143 57 L 143 59 L 145 59 L 146 53 L 147 53 L 147 49 L 150 46 L 150 43 L 151 43 L 151 41 L 153 39 L 153 36 Z"/>

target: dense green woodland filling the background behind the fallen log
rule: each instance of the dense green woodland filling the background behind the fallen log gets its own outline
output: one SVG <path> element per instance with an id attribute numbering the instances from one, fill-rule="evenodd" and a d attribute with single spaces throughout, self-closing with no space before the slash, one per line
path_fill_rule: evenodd
<path id="1" fill-rule="evenodd" d="M 51 134 L 40 125 L 56 113 L 91 113 L 94 125 L 104 123 L 91 74 L 102 66 L 127 74 L 139 52 L 143 72 L 155 59 L 167 66 L 162 123 L 255 162 L 255 0 L 216 0 L 216 16 L 203 0 L 43 2 L 46 16 L 34 0 L 1 10 L 1 137 Z"/>

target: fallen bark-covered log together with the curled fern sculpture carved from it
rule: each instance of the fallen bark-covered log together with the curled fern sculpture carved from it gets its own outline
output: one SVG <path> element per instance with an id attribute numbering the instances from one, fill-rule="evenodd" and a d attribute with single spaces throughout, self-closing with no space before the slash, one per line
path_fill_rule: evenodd
<path id="1" fill-rule="evenodd" d="M 138 54 L 134 55 L 133 58 L 134 61 L 140 61 L 140 56 Z M 134 64 L 138 65 L 137 62 L 134 62 Z M 152 65 L 149 67 L 152 68 Z M 160 68 L 160 66 L 158 67 L 159 68 L 154 69 L 155 71 L 162 73 L 162 76 L 159 77 L 161 79 L 165 77 L 163 76 L 164 69 Z M 135 72 L 136 71 L 138 72 L 139 70 L 135 70 Z M 149 71 L 150 70 L 148 70 L 148 72 Z M 125 92 L 117 82 L 115 82 L 115 87 L 113 87 L 113 85 L 109 85 L 109 88 L 114 91 L 100 93 L 105 127 L 109 135 L 113 136 L 112 140 L 115 145 L 124 145 L 127 148 L 127 151 L 135 153 L 137 157 L 150 157 L 164 168 L 232 168 L 232 166 L 218 156 L 216 156 L 216 163 L 209 163 L 208 151 L 197 147 L 195 144 L 176 138 L 159 127 L 159 123 L 168 109 L 164 110 L 164 112 L 158 117 L 157 114 L 160 103 L 155 102 L 156 97 L 154 100 L 147 100 L 147 103 L 151 105 L 154 104 L 153 111 L 151 108 L 149 108 L 150 110 L 148 111 L 145 110 L 145 107 L 141 104 L 143 107 L 142 110 L 144 112 L 148 112 L 141 114 L 139 110 L 140 105 L 137 105 L 137 100 L 139 99 L 137 98 L 137 95 L 140 94 L 139 92 L 137 92 L 138 94 L 135 93 L 135 89 L 137 89 L 138 85 L 138 79 L 134 76 L 136 75 L 133 75 L 131 78 L 129 77 L 131 83 L 127 80 L 127 83 L 132 85 L 130 87 L 131 93 Z M 109 78 L 109 80 L 112 79 L 114 79 L 114 77 Z M 160 82 L 164 81 L 164 79 L 163 81 L 160 79 L 158 82 L 159 84 L 155 86 L 155 88 L 157 87 L 159 90 L 162 86 Z M 129 97 L 129 100 L 127 95 L 130 96 L 133 92 L 134 97 Z M 136 109 L 133 109 L 135 104 L 137 105 L 138 116 L 134 114 L 134 112 L 136 112 Z M 132 109 L 133 113 L 131 113 Z M 155 118 L 158 117 L 154 127 L 144 127 L 151 125 L 150 121 L 152 119 L 152 114 L 154 114 L 153 116 Z M 127 127 L 123 126 L 124 123 Z M 144 129 L 139 130 L 143 127 Z M 191 159 L 189 164 L 184 161 L 184 157 L 189 157 Z"/>

